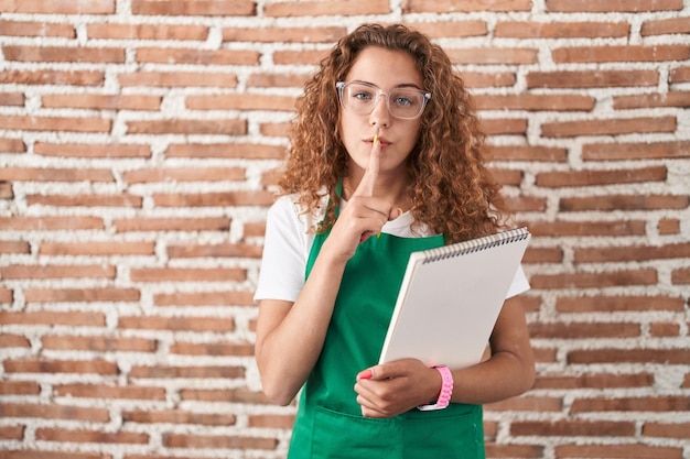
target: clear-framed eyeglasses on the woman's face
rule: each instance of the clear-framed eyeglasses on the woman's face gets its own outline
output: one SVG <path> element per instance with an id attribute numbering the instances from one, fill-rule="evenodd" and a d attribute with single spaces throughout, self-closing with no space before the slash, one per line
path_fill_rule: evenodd
<path id="1" fill-rule="evenodd" d="M 335 87 L 343 108 L 357 114 L 369 114 L 378 103 L 379 96 L 386 96 L 386 105 L 392 117 L 413 120 L 422 114 L 431 99 L 431 92 L 413 88 L 395 88 L 386 92 L 378 86 L 359 81 L 337 81 Z"/>

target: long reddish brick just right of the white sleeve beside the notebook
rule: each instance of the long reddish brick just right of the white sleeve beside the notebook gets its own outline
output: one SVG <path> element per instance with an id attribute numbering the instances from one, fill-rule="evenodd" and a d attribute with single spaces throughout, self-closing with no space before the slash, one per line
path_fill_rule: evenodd
<path id="1" fill-rule="evenodd" d="M 535 274 L 530 277 L 532 288 L 605 288 L 630 285 L 655 285 L 656 270 L 640 269 L 601 273 Z"/>

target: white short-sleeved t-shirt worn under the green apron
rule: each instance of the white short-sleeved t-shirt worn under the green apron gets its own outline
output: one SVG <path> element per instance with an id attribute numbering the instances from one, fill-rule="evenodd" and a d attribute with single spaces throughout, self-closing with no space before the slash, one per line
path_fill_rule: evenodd
<path id="1" fill-rule="evenodd" d="M 280 197 L 269 209 L 261 271 L 254 299 L 284 299 L 294 302 L 304 286 L 306 260 L 314 243 L 309 229 L 323 219 L 328 197 L 322 201 L 319 215 L 301 214 L 295 204 L 297 195 Z M 341 207 L 345 201 L 341 203 Z M 384 225 L 381 232 L 401 238 L 433 236 L 427 227 L 411 230 L 412 215 L 408 211 Z M 529 283 L 520 266 L 515 274 L 507 297 L 529 289 Z"/>

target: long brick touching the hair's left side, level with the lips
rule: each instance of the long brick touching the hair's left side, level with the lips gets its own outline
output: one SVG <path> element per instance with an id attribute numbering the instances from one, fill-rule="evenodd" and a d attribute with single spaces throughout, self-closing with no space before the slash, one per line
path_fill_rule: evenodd
<path id="1" fill-rule="evenodd" d="M 241 157 L 282 160 L 284 146 L 256 143 L 173 143 L 165 150 L 168 157 Z"/>

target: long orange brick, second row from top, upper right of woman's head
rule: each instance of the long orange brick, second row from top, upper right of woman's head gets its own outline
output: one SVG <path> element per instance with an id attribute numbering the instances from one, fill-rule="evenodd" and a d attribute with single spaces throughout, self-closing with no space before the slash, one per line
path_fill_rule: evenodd
<path id="1" fill-rule="evenodd" d="M 495 36 L 515 39 L 603 39 L 626 37 L 626 22 L 535 22 L 499 21 Z"/>

